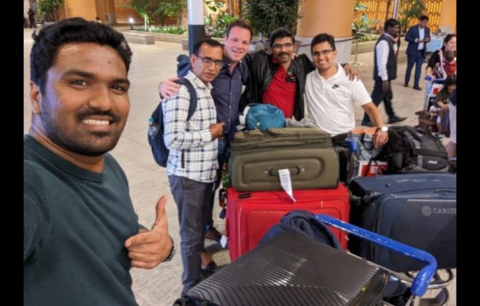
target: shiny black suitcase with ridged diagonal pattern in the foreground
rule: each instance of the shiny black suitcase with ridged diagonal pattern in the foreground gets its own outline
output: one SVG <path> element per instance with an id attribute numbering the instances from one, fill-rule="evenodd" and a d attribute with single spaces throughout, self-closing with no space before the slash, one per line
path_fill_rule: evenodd
<path id="1" fill-rule="evenodd" d="M 377 305 L 387 280 L 365 259 L 287 232 L 189 290 L 185 305 Z"/>

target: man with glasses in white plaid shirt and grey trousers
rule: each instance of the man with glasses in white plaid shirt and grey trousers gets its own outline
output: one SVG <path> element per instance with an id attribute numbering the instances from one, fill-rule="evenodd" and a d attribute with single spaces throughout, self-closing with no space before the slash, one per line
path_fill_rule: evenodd
<path id="1" fill-rule="evenodd" d="M 162 101 L 165 145 L 170 150 L 167 175 L 178 207 L 184 288 L 182 295 L 200 282 L 206 222 L 213 203 L 213 181 L 217 175 L 218 138 L 224 123 L 217 123 L 210 82 L 217 77 L 223 49 L 216 40 L 197 42 L 187 74 L 197 92 L 197 108 L 187 121 L 190 95 L 181 86 L 177 95 Z"/>

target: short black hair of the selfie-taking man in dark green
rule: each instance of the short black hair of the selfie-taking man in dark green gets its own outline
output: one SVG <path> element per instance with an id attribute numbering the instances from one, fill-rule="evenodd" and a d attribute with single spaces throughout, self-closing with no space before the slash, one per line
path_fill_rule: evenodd
<path id="1" fill-rule="evenodd" d="M 108 25 L 86 21 L 75 17 L 57 21 L 32 34 L 34 45 L 30 53 L 30 80 L 45 93 L 47 72 L 57 55 L 58 49 L 68 42 L 94 42 L 115 49 L 125 63 L 128 72 L 132 62 L 132 51 L 123 34 Z"/>

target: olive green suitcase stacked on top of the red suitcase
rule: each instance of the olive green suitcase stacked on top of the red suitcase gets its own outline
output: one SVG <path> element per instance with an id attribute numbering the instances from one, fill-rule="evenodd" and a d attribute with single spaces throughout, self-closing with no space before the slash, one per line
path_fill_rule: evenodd
<path id="1" fill-rule="evenodd" d="M 289 169 L 293 190 L 336 188 L 339 160 L 330 135 L 308 127 L 235 133 L 228 162 L 233 188 L 282 190 L 280 169 Z"/>

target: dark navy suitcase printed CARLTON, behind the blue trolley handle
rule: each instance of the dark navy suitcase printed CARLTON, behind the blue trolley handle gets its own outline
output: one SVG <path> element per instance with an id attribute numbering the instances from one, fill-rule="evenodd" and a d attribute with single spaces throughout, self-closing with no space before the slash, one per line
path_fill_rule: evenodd
<path id="1" fill-rule="evenodd" d="M 457 266 L 457 176 L 415 173 L 350 182 L 350 223 L 431 253 L 438 268 Z M 420 270 L 413 259 L 352 237 L 349 250 L 396 272 Z"/>

